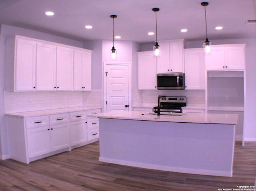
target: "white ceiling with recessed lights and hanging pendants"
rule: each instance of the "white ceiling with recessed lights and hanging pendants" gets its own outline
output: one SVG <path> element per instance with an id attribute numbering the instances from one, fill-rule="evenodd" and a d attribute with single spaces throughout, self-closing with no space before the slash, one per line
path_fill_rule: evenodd
<path id="1" fill-rule="evenodd" d="M 116 14 L 115 35 L 120 40 L 141 44 L 152 43 L 156 36 L 155 13 L 158 7 L 158 40 L 205 40 L 203 0 L 0 0 L 0 24 L 45 32 L 79 41 L 112 40 Z M 256 0 L 208 0 L 206 6 L 208 38 L 256 38 Z M 51 10 L 54 16 L 46 16 Z M 93 28 L 85 29 L 85 25 Z M 223 26 L 222 30 L 215 30 Z M 180 30 L 187 28 L 188 32 Z"/>

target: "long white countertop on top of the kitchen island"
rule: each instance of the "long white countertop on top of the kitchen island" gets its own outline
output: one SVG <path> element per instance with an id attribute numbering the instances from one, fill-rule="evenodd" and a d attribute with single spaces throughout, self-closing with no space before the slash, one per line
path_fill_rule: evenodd
<path id="1" fill-rule="evenodd" d="M 237 114 L 217 113 L 182 113 L 182 115 L 151 115 L 145 111 L 110 111 L 88 115 L 91 117 L 108 119 L 130 119 L 142 121 L 164 121 L 179 123 L 214 123 L 214 124 L 237 124 Z"/>

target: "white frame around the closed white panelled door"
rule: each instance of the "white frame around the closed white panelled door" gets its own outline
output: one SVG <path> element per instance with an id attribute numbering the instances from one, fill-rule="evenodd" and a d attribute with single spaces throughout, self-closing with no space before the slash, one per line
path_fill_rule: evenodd
<path id="1" fill-rule="evenodd" d="M 128 66 L 128 110 L 131 111 L 132 109 L 132 76 L 131 76 L 131 63 L 130 62 L 104 62 L 104 69 L 103 69 L 103 84 L 104 84 L 104 88 L 103 88 L 103 102 L 102 102 L 102 109 L 103 112 L 107 112 L 106 111 L 106 99 L 107 99 L 107 92 L 106 92 L 106 68 L 108 65 L 119 65 L 119 66 Z"/>

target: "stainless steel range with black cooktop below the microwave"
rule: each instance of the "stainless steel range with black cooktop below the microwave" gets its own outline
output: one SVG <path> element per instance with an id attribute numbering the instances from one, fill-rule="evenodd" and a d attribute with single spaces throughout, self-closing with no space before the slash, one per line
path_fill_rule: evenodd
<path id="1" fill-rule="evenodd" d="M 154 112 L 158 115 L 182 113 L 184 106 L 186 106 L 186 97 L 158 96 L 158 106 L 154 107 Z"/>

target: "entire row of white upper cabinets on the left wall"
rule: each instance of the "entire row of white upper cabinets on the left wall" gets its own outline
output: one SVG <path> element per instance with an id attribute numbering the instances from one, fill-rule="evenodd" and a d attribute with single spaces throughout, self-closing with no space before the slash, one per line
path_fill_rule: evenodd
<path id="1" fill-rule="evenodd" d="M 91 90 L 91 52 L 15 35 L 7 39 L 6 91 Z"/>

